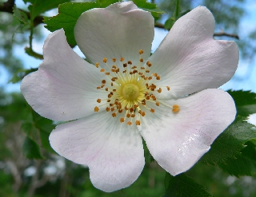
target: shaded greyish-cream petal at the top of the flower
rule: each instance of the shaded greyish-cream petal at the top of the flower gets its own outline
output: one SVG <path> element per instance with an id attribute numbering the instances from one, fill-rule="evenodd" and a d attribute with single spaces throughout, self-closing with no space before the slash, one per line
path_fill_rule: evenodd
<path id="1" fill-rule="evenodd" d="M 118 2 L 106 9 L 88 10 L 78 18 L 74 37 L 89 61 L 102 62 L 106 57 L 133 61 L 150 56 L 154 38 L 154 18 L 150 12 L 138 9 L 133 2 Z"/>

